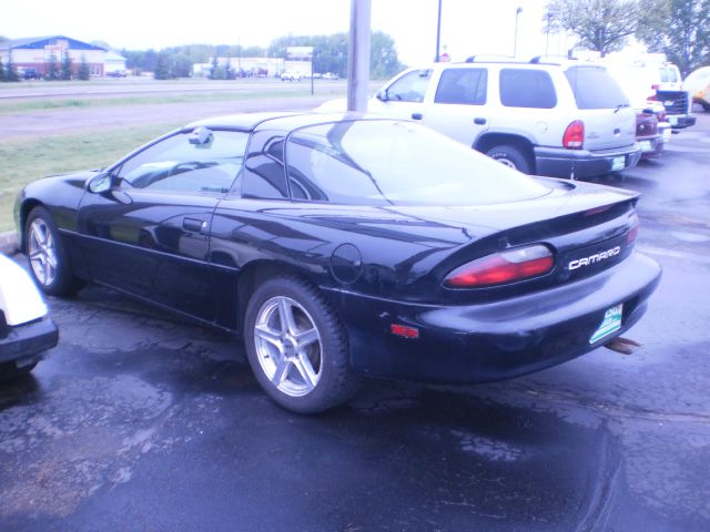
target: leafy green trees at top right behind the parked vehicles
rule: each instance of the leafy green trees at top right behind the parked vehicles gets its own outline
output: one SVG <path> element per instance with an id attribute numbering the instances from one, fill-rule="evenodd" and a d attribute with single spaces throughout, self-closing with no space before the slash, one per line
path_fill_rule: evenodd
<path id="1" fill-rule="evenodd" d="M 542 22 L 602 57 L 635 37 L 683 76 L 710 64 L 710 0 L 550 0 Z"/>

